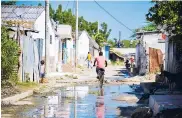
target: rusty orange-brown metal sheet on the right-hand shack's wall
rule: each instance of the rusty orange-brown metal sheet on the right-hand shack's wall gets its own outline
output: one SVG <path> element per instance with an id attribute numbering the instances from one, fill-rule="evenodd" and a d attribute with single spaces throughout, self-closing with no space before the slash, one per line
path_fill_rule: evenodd
<path id="1" fill-rule="evenodd" d="M 163 54 L 160 49 L 149 48 L 149 72 L 160 71 L 160 64 L 163 64 Z"/>

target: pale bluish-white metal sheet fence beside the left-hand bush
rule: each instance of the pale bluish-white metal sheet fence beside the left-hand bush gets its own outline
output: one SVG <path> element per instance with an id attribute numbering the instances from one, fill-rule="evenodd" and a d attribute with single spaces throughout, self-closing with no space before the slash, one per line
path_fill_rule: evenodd
<path id="1" fill-rule="evenodd" d="M 21 36 L 21 45 L 23 49 L 21 65 L 21 81 L 39 80 L 39 51 L 36 40 L 30 36 Z"/>

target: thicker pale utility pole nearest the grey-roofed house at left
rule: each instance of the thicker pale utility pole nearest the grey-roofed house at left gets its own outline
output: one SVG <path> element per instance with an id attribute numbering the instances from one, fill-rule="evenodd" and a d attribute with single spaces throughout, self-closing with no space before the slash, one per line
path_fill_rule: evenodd
<path id="1" fill-rule="evenodd" d="M 49 72 L 49 0 L 45 0 L 45 74 Z"/>

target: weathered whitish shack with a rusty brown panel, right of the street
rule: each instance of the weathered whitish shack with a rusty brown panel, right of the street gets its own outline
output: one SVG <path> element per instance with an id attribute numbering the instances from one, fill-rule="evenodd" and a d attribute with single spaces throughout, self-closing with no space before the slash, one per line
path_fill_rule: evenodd
<path id="1" fill-rule="evenodd" d="M 160 31 L 137 32 L 136 67 L 140 75 L 159 71 L 165 59 L 165 39 Z"/>

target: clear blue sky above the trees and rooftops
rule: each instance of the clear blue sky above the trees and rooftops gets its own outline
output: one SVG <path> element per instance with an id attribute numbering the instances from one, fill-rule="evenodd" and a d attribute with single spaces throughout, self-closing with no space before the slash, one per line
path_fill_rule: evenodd
<path id="1" fill-rule="evenodd" d="M 38 3 L 39 1 L 18 1 L 17 5 L 37 5 Z M 43 1 L 40 1 L 40 3 L 44 4 Z M 68 4 L 67 1 L 51 1 L 50 3 L 54 9 L 59 4 L 62 4 L 63 9 L 65 9 Z M 146 24 L 145 14 L 152 6 L 152 3 L 149 1 L 99 1 L 98 3 L 130 29 L 136 29 Z M 74 4 L 74 1 L 69 1 L 67 9 L 73 9 Z M 119 31 L 121 31 L 121 39 L 129 39 L 132 35 L 130 30 L 116 22 L 94 1 L 79 1 L 79 16 L 83 16 L 87 21 L 106 22 L 108 27 L 112 29 L 110 39 L 118 38 Z"/>

